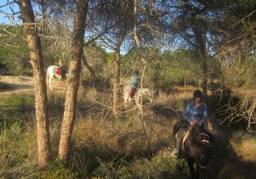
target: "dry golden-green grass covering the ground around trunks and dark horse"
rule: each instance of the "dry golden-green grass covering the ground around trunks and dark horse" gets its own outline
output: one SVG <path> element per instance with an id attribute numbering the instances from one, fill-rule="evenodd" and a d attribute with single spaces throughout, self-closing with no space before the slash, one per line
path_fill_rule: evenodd
<path id="1" fill-rule="evenodd" d="M 111 109 L 107 107 L 111 106 L 110 92 L 102 93 L 94 88 L 79 89 L 70 169 L 77 171 L 80 178 L 187 178 L 189 173 L 185 162 L 185 169 L 178 171 L 170 152 L 174 147 L 172 128 L 183 117 L 185 105 L 192 99 L 193 90 L 178 89 L 170 94 L 160 93 L 155 101 L 154 113 L 144 109 L 142 121 L 137 109 L 114 118 Z M 51 143 L 53 156 L 57 156 L 64 99 L 63 94 L 51 95 L 54 95 L 49 97 Z M 28 116 L 33 119 L 34 113 Z M 31 176 L 29 171 L 39 172 L 37 176 L 43 175 L 35 165 L 37 149 L 34 124 L 32 120 L 25 128 L 2 133 L 0 167 L 4 169 L 0 169 L 0 176 L 26 177 Z M 207 177 L 245 178 L 242 169 L 246 166 L 247 176 L 251 177 L 254 174 L 251 166 L 256 163 L 255 135 L 242 130 L 231 135 L 228 127 L 218 124 L 214 127 L 218 145 L 207 170 Z M 12 140 L 13 137 L 2 138 L 7 133 L 15 136 L 15 140 Z M 19 155 L 15 154 L 17 151 Z M 16 160 L 15 155 L 23 159 Z M 236 172 L 233 174 L 234 169 Z M 3 173 L 4 170 L 9 172 L 8 175 Z M 57 173 L 63 171 L 63 168 L 53 167 L 52 170 Z"/>

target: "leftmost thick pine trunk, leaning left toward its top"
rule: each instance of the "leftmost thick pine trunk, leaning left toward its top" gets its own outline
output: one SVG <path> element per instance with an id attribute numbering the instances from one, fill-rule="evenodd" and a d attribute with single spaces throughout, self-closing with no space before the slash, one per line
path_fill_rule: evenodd
<path id="1" fill-rule="evenodd" d="M 47 166 L 51 156 L 46 79 L 43 54 L 30 0 L 18 0 L 23 27 L 28 41 L 30 62 L 35 79 L 35 107 L 37 126 L 38 163 Z"/>

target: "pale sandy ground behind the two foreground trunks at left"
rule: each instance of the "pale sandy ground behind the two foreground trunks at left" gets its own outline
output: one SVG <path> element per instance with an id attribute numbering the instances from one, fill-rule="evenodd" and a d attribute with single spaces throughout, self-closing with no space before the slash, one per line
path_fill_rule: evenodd
<path id="1" fill-rule="evenodd" d="M 6 82 L 10 89 L 0 90 L 0 97 L 29 94 L 34 95 L 34 77 L 26 76 L 0 76 L 1 82 Z M 64 90 L 65 81 L 52 80 L 53 91 Z M 48 89 L 49 90 L 49 89 Z"/>

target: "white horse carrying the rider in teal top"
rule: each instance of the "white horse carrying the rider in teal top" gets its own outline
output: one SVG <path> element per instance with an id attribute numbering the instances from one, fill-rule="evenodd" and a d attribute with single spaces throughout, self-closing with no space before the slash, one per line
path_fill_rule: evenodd
<path id="1" fill-rule="evenodd" d="M 127 104 L 131 102 L 131 97 L 129 95 L 129 90 L 131 90 L 131 86 L 126 86 L 123 89 L 124 94 L 124 100 L 125 100 L 125 108 L 127 110 Z M 146 100 L 149 102 L 150 107 L 153 107 L 153 100 L 155 98 L 155 92 L 154 90 L 149 90 L 147 88 L 138 89 L 137 93 L 134 95 L 133 98 L 135 98 L 136 105 L 138 107 L 141 107 L 143 104 L 143 100 Z"/>

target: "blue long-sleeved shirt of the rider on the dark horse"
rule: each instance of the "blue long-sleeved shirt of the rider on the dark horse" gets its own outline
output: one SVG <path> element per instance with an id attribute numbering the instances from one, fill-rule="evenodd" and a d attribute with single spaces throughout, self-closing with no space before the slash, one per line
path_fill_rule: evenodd
<path id="1" fill-rule="evenodd" d="M 205 123 L 207 119 L 207 107 L 204 102 L 201 102 L 200 106 L 197 107 L 195 101 L 189 102 L 185 109 L 185 118 L 190 123 L 195 121 L 195 123 Z"/>

